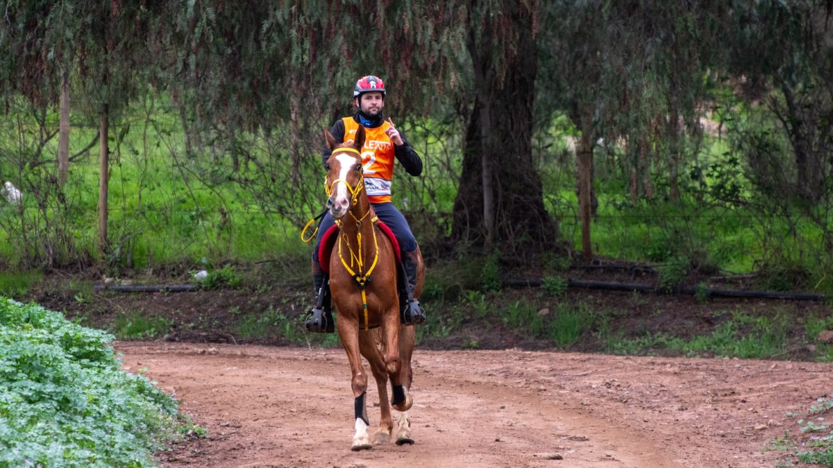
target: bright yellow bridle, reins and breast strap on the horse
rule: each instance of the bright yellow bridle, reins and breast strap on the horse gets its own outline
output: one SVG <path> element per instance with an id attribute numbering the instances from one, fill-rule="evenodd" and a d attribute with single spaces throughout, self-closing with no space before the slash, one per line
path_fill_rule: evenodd
<path id="1" fill-rule="evenodd" d="M 356 154 L 361 154 L 360 152 L 358 152 L 357 150 L 355 150 L 353 148 L 337 148 L 336 151 L 337 152 L 355 152 Z M 362 178 L 356 184 L 356 187 L 351 187 L 350 183 L 347 182 L 344 179 L 337 179 L 337 180 L 333 181 L 332 183 L 328 183 L 329 181 L 328 181 L 327 177 L 328 176 L 324 177 L 324 191 L 327 192 L 327 197 L 331 197 L 332 196 L 332 188 L 335 187 L 338 182 L 342 182 L 345 186 L 347 186 L 347 190 L 350 192 L 350 194 L 352 196 L 351 197 L 352 198 L 351 199 L 351 207 L 356 206 L 356 203 L 358 201 L 358 195 L 359 195 L 360 192 L 362 192 L 362 189 L 364 188 L 364 176 L 362 175 Z M 366 273 L 362 273 L 362 270 L 364 270 L 364 257 L 362 256 L 362 221 L 367 217 L 367 215 L 370 214 L 370 212 L 371 212 L 370 207 L 367 207 L 367 212 L 364 215 L 362 215 L 361 218 L 357 218 L 353 214 L 352 211 L 349 212 L 350 216 L 356 221 L 356 228 L 357 228 L 356 241 L 358 243 L 358 249 L 357 249 L 358 252 L 354 252 L 352 250 L 352 248 L 350 246 L 350 239 L 347 237 L 347 234 L 342 233 L 342 236 L 340 236 L 338 238 L 338 258 L 339 258 L 339 260 L 342 261 L 342 266 L 344 266 L 344 269 L 347 270 L 347 272 L 350 273 L 350 276 L 352 276 L 353 279 L 356 280 L 356 282 L 358 283 L 359 291 L 362 291 L 362 311 L 364 311 L 364 329 L 365 329 L 365 331 L 370 330 L 370 323 L 369 323 L 369 319 L 367 317 L 367 294 L 365 293 L 365 286 L 367 285 L 367 281 L 370 281 L 371 273 L 376 268 L 376 265 L 379 261 L 379 242 L 377 241 L 376 227 L 373 227 L 373 225 L 371 224 L 371 232 L 373 233 L 373 247 L 375 249 L 375 253 L 374 253 L 373 262 L 372 262 L 370 268 L 367 269 Z M 374 222 L 377 222 L 378 220 L 379 220 L 379 218 L 374 216 L 374 217 L 371 218 L 370 222 L 374 223 Z M 316 228 L 315 232 L 312 232 L 312 236 L 310 236 L 307 239 L 304 239 L 304 232 L 307 232 L 307 228 L 310 227 L 312 222 L 315 222 L 315 219 L 312 219 L 312 220 L 310 220 L 310 222 L 307 222 L 307 226 L 305 226 L 303 231 L 301 232 L 301 239 L 305 242 L 311 241 L 312 237 L 315 236 L 316 232 L 318 231 L 318 229 Z M 337 219 L 336 224 L 338 225 L 339 229 L 342 228 L 342 220 Z M 344 243 L 347 244 L 347 251 L 350 251 L 350 265 L 347 265 L 347 261 L 344 259 L 344 255 L 342 254 L 342 245 Z M 357 267 L 356 271 L 358 271 L 358 273 L 352 269 L 352 266 L 354 264 Z"/>

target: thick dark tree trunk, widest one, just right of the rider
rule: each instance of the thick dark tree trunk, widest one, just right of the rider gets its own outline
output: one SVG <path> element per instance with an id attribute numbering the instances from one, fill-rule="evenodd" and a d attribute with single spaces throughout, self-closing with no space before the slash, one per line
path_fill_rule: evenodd
<path id="1" fill-rule="evenodd" d="M 489 33 L 493 17 L 486 20 L 485 33 L 469 37 L 475 99 L 467 119 L 451 230 L 458 245 L 532 253 L 554 246 L 558 232 L 544 207 L 541 177 L 532 158 L 534 13 L 521 2 L 507 8 L 499 14 L 509 15 L 516 25 L 513 48 L 522 53 L 506 52 L 506 44 Z M 495 57 L 496 53 L 506 57 Z M 498 66 L 501 60 L 504 67 Z M 499 69 L 506 70 L 502 79 Z"/>

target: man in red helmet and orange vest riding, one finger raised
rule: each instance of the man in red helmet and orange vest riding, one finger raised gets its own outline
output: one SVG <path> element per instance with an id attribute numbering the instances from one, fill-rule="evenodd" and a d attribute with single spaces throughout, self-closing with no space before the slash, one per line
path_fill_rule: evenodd
<path id="1" fill-rule="evenodd" d="M 394 157 L 412 176 L 422 173 L 422 160 L 408 144 L 402 132 L 394 127 L 393 122 L 385 119 L 382 112 L 385 108 L 385 95 L 385 82 L 382 79 L 372 75 L 359 78 L 353 89 L 353 102 L 358 109 L 357 112 L 351 117 L 337 121 L 330 133 L 338 142 L 347 142 L 355 139 L 359 126 L 364 127 L 366 138 L 362 147 L 362 172 L 367 197 L 377 217 L 391 228 L 402 251 L 402 269 L 407 278 L 406 281 L 402 281 L 402 286 L 407 288 L 402 295 L 402 321 L 407 324 L 420 324 L 426 320 L 425 311 L 412 295 L 416 285 L 418 262 L 416 238 L 405 217 L 391 202 L 391 182 Z M 330 153 L 330 148 L 325 145 L 322 152 L 325 167 Z M 307 316 L 306 325 L 310 331 L 334 331 L 327 275 L 319 262 L 328 259 L 318 258 L 322 237 L 334 223 L 332 216 L 327 212 L 318 227 L 316 246 L 312 251 L 312 286 L 318 301 L 317 306 L 314 306 Z"/>

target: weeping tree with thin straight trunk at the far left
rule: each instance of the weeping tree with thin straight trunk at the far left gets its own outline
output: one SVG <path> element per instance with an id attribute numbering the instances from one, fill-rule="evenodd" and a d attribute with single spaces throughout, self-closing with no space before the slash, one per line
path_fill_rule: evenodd
<path id="1" fill-rule="evenodd" d="M 156 69 L 156 56 L 148 43 L 156 35 L 164 3 L 81 2 L 55 0 L 12 1 L 0 4 L 2 50 L 9 54 L 2 82 L 20 92 L 36 107 L 59 102 L 71 70 L 92 108 L 82 112 L 99 121 L 98 248 L 100 259 L 108 252 L 107 188 L 109 126 L 137 92 L 142 79 Z M 154 9 L 157 8 L 157 9 Z M 66 128 L 67 122 L 62 122 Z M 67 146 L 62 142 L 60 147 Z M 36 155 L 37 156 L 37 155 Z M 62 170 L 67 161 L 61 162 Z M 63 176 L 59 176 L 62 178 Z"/>

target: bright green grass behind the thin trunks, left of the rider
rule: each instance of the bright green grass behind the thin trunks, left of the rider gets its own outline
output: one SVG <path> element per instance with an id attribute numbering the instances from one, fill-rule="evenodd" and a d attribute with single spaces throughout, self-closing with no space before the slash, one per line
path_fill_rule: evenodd
<path id="1" fill-rule="evenodd" d="M 184 157 L 185 138 L 177 117 L 164 111 L 152 116 L 146 144 L 141 114 L 137 114 L 125 116 L 132 120 L 132 127 L 121 146 L 110 142 L 108 237 L 112 251 L 105 259 L 108 265 L 123 266 L 127 256 L 136 267 L 196 263 L 202 258 L 212 264 L 228 258 L 255 261 L 304 248 L 297 226 L 285 217 L 267 214 L 250 192 L 212 174 L 217 164 L 201 165 Z M 116 133 L 124 124 L 113 125 Z M 94 135 L 92 127 L 73 127 L 70 152 L 80 151 Z M 17 137 L 0 135 L 0 154 L 5 153 L 3 147 L 17 145 Z M 36 138 L 34 134 L 28 137 Z M 26 141 L 27 135 L 22 138 Z M 54 154 L 56 146 L 54 139 L 44 151 Z M 37 177 L 45 175 L 9 172 L 15 165 L 2 165 L 3 180 L 14 181 L 27 194 L 22 217 L 5 202 L 0 209 L 0 258 L 7 264 L 38 263 L 37 249 L 50 239 L 59 263 L 97 256 L 96 150 L 93 147 L 86 157 L 72 162 L 62 190 L 65 204 L 48 202 L 45 212 L 37 207 L 36 197 L 26 185 L 42 183 L 47 188 L 40 190 L 52 190 L 46 182 L 37 182 Z M 20 182 L 21 178 L 27 182 Z M 57 193 L 51 197 L 49 200 L 54 200 Z M 50 221 L 48 228 L 46 219 Z"/>

